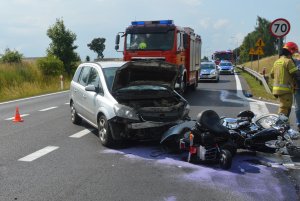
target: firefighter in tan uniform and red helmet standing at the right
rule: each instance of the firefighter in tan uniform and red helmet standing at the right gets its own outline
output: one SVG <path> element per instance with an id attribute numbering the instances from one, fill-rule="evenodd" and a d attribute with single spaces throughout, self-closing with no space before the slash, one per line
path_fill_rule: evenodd
<path id="1" fill-rule="evenodd" d="M 298 52 L 298 46 L 294 42 L 287 42 L 280 53 L 279 59 L 274 62 L 270 76 L 274 79 L 273 95 L 279 100 L 278 113 L 289 117 L 293 105 L 293 93 L 296 84 L 295 66 L 292 55 Z"/>

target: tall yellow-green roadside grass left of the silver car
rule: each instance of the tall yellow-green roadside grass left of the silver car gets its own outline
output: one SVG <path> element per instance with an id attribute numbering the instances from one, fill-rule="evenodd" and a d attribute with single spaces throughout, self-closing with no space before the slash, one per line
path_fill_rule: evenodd
<path id="1" fill-rule="evenodd" d="M 69 89 L 70 78 L 64 79 Z M 0 64 L 0 102 L 61 91 L 59 76 L 44 76 L 35 62 Z"/>

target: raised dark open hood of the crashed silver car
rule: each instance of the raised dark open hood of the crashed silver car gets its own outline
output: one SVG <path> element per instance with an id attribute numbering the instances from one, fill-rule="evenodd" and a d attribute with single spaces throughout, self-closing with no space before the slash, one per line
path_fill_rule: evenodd
<path id="1" fill-rule="evenodd" d="M 179 68 L 164 61 L 130 61 L 121 66 L 112 91 L 135 85 L 166 85 L 174 89 Z"/>

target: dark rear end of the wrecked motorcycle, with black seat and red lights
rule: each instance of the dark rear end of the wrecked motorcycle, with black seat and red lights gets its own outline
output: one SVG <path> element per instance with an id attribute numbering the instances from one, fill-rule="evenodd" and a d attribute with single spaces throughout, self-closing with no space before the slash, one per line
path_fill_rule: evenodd
<path id="1" fill-rule="evenodd" d="M 229 169 L 236 146 L 220 120 L 215 111 L 205 110 L 195 121 L 170 128 L 164 133 L 161 144 L 173 151 L 188 151 L 188 162 L 219 163 L 222 169 Z"/>

